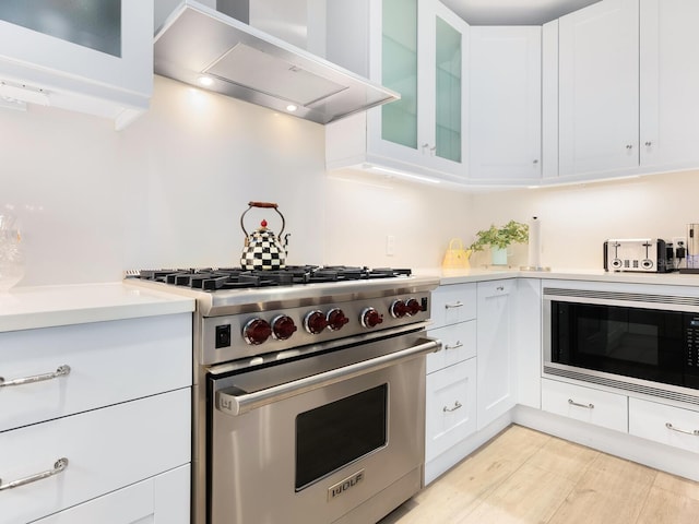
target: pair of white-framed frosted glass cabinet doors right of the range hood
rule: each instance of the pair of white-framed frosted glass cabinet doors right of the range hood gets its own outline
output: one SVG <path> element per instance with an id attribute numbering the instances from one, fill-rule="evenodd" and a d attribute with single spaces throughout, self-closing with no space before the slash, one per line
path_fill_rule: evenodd
<path id="1" fill-rule="evenodd" d="M 465 178 L 467 24 L 431 0 L 382 0 L 380 20 L 380 83 L 401 99 L 370 111 L 374 153 Z"/>

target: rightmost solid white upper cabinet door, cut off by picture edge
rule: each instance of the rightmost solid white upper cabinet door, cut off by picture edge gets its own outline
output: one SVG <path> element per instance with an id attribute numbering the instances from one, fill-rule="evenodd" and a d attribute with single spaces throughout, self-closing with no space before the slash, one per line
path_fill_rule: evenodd
<path id="1" fill-rule="evenodd" d="M 640 4 L 641 165 L 696 167 L 699 2 L 641 0 Z"/>

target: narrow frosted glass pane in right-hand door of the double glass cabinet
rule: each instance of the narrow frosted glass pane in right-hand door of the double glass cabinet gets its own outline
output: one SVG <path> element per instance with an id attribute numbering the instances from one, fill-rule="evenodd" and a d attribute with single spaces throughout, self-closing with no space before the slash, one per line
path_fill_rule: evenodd
<path id="1" fill-rule="evenodd" d="M 461 33 L 437 16 L 437 156 L 461 162 Z"/>

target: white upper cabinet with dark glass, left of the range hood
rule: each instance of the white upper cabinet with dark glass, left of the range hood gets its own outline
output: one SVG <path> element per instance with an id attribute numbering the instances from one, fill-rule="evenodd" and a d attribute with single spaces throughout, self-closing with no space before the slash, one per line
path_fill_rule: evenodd
<path id="1" fill-rule="evenodd" d="M 126 127 L 153 91 L 153 2 L 1 2 L 0 82 L 5 99 Z"/>

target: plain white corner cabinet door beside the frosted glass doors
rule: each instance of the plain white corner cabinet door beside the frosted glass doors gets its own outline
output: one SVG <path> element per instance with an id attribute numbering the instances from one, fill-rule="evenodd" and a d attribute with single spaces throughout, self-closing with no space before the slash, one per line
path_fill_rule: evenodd
<path id="1" fill-rule="evenodd" d="M 542 28 L 472 27 L 470 179 L 538 181 Z"/>

